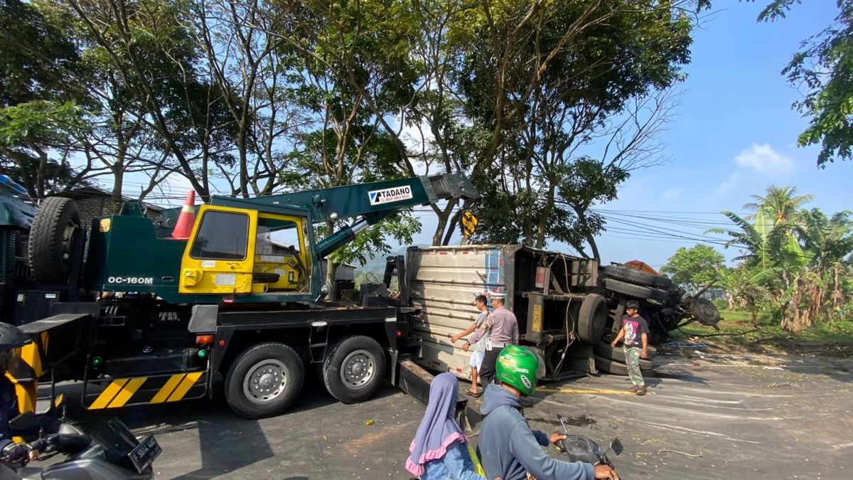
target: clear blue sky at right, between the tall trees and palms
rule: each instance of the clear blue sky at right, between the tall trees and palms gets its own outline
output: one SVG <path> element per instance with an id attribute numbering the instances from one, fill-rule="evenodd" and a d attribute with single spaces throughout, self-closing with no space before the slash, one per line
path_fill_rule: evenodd
<path id="1" fill-rule="evenodd" d="M 763 193 L 769 184 L 790 184 L 814 194 L 812 206 L 827 212 L 850 208 L 847 193 L 853 164 L 836 162 L 821 170 L 815 167 L 818 149 L 796 147 L 807 122 L 791 104 L 801 93 L 780 75 L 799 43 L 827 26 L 838 9 L 831 0 L 807 2 L 786 20 L 759 24 L 756 18 L 763 4 L 731 3 L 695 32 L 682 105 L 664 134 L 670 162 L 636 173 L 618 201 L 604 208 L 702 212 L 649 215 L 713 224 L 727 220 L 705 213 L 742 212 L 749 196 Z M 679 246 L 695 244 L 632 241 L 616 235 L 605 233 L 601 238 L 602 260 L 637 258 L 661 266 Z M 737 253 L 720 248 L 728 258 Z"/>

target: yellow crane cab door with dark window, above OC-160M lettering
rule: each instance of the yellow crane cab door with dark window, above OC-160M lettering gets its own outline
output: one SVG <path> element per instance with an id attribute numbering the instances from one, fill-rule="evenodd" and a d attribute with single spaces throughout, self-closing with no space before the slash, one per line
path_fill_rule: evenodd
<path id="1" fill-rule="evenodd" d="M 185 294 L 252 293 L 258 212 L 202 205 L 181 261 L 178 291 Z"/>

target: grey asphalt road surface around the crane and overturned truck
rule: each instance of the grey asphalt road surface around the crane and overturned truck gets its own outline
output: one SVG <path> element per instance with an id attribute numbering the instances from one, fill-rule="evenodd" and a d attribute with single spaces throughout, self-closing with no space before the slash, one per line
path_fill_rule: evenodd
<path id="1" fill-rule="evenodd" d="M 560 429 L 561 413 L 572 433 L 618 436 L 624 453 L 613 460 L 627 479 L 853 477 L 850 359 L 661 361 L 664 378 L 648 379 L 649 395 L 628 395 L 627 378 L 612 376 L 546 383 L 525 416 L 539 430 Z M 275 419 L 239 419 L 221 401 L 110 414 L 157 436 L 158 478 L 337 479 L 409 478 L 403 465 L 423 411 L 391 387 L 344 405 L 307 383 L 299 407 Z"/>

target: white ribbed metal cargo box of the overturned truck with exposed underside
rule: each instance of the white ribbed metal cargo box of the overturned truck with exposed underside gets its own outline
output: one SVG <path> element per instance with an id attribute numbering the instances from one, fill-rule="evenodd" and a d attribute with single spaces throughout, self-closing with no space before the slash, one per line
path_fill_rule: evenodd
<path id="1" fill-rule="evenodd" d="M 598 289 L 596 260 L 524 245 L 466 245 L 411 247 L 406 264 L 412 307 L 421 310 L 413 328 L 423 341 L 416 359 L 422 366 L 470 379 L 471 354 L 461 350 L 462 340 L 451 344 L 450 336 L 477 318 L 475 296 L 496 292 L 507 294 L 521 343 L 543 360 L 540 377 L 546 367 L 553 377 L 567 367 L 595 372 L 592 349 L 578 331 L 588 325 L 578 319 L 583 301 Z M 600 337 L 607 312 L 596 313 Z"/>

